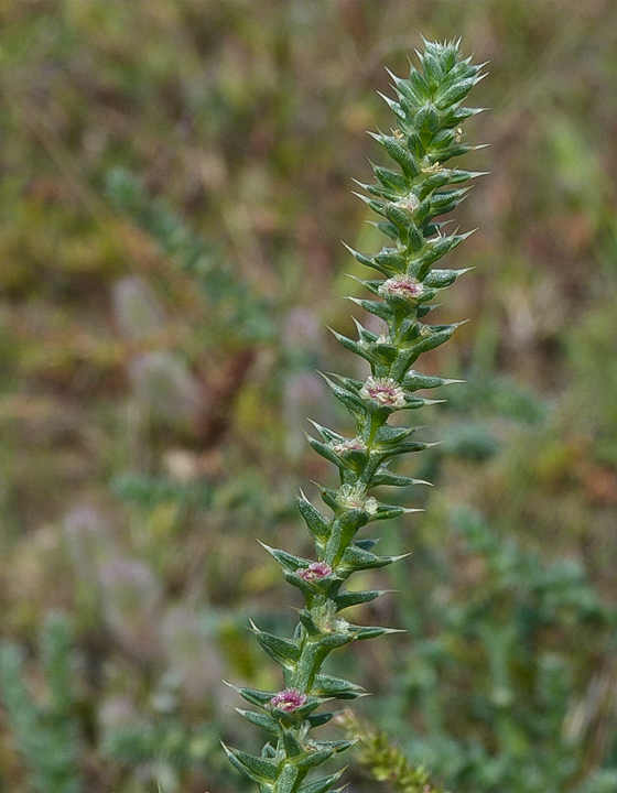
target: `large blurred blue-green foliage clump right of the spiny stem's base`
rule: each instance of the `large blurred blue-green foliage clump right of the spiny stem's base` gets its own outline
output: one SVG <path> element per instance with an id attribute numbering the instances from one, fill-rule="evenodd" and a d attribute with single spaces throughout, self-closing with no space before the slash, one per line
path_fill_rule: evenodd
<path id="1" fill-rule="evenodd" d="M 415 725 L 404 751 L 462 793 L 602 790 L 617 613 L 574 560 L 545 563 L 468 510 L 451 523 L 457 568 L 441 571 L 440 598 L 410 604 L 420 624 L 398 681 Z M 591 754 L 607 768 L 589 768 Z"/>

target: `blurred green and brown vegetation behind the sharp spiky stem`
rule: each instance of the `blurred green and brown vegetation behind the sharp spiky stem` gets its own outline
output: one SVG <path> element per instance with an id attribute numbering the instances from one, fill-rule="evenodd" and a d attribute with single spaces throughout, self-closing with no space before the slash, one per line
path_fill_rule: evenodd
<path id="1" fill-rule="evenodd" d="M 300 604 L 256 537 L 307 553 L 335 481 L 305 419 L 349 428 L 315 369 L 356 371 L 351 180 L 420 34 L 490 62 L 439 309 L 470 322 L 420 366 L 466 385 L 361 582 L 407 633 L 329 669 L 453 793 L 617 790 L 611 0 L 0 2 L 1 790 L 247 790 L 220 680 L 280 685 L 246 626 Z"/>

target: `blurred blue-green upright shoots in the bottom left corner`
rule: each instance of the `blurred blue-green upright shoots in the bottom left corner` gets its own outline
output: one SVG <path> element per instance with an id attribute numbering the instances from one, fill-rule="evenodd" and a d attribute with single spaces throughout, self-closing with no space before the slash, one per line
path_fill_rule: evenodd
<path id="1" fill-rule="evenodd" d="M 29 767 L 33 793 L 79 793 L 85 790 L 79 769 L 82 736 L 67 619 L 52 615 L 41 643 L 46 687 L 42 702 L 35 702 L 25 683 L 23 653 L 9 642 L 0 645 L 0 694 Z"/>

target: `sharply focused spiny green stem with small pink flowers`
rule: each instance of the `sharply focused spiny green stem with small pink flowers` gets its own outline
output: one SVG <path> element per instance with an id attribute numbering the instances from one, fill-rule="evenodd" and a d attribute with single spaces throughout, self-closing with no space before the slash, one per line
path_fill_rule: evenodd
<path id="1" fill-rule="evenodd" d="M 241 715 L 266 729 L 272 739 L 261 757 L 226 751 L 231 763 L 257 782 L 262 793 L 325 793 L 340 776 L 338 772 L 304 783 L 312 769 L 351 745 L 348 740 L 313 738 L 313 729 L 334 715 L 317 708 L 332 699 L 353 699 L 362 691 L 355 683 L 332 677 L 322 667 L 334 649 L 392 632 L 350 624 L 340 611 L 381 594 L 348 590 L 346 584 L 353 573 L 385 567 L 400 558 L 378 556 L 372 551 L 376 541 L 357 534 L 368 523 L 413 511 L 378 501 L 371 490 L 419 484 L 390 470 L 389 463 L 430 445 L 412 438 L 416 427 L 390 425 L 388 420 L 396 412 L 434 402 L 416 395 L 416 391 L 453 382 L 412 367 L 422 352 L 447 341 L 458 326 L 431 325 L 423 319 L 432 308 L 431 301 L 465 272 L 434 268 L 468 236 L 456 230 L 446 233 L 446 224 L 437 218 L 463 200 L 468 187 L 461 185 L 478 175 L 446 163 L 473 148 L 464 142 L 461 124 L 478 109 L 463 107 L 462 102 L 481 78 L 481 66 L 462 58 L 458 42 L 426 42 L 420 61 L 422 70 L 412 66 L 409 79 L 392 76 L 397 99 L 385 97 L 397 129 L 391 134 L 374 135 L 397 167 L 374 165 L 377 182 L 361 185 L 368 196 L 360 197 L 381 216 L 377 227 L 390 238 L 391 246 L 372 256 L 353 251 L 361 264 L 379 274 L 376 280 L 361 281 L 371 298 L 354 302 L 382 321 L 385 328 L 378 334 L 357 323 L 358 340 L 335 333 L 344 347 L 368 362 L 370 374 L 364 381 L 325 378 L 355 421 L 355 433 L 345 437 L 315 424 L 321 439 L 310 438 L 313 448 L 333 463 L 340 476 L 337 489 L 320 488 L 332 514 L 324 515 L 304 495 L 299 499 L 300 512 L 315 541 L 315 558 L 266 546 L 306 602 L 291 639 L 252 626 L 259 643 L 282 666 L 284 687 L 280 692 L 237 689 L 259 708 L 240 710 Z"/>

